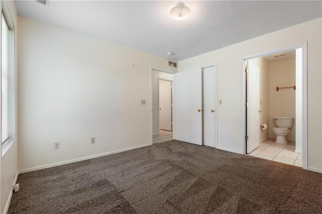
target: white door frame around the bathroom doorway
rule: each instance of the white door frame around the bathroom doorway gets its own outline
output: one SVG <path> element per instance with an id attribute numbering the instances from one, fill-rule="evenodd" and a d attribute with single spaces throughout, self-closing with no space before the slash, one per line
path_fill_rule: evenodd
<path id="1" fill-rule="evenodd" d="M 307 169 L 307 41 L 291 46 L 286 46 L 262 53 L 257 53 L 254 55 L 246 56 L 241 58 L 241 120 L 240 120 L 240 127 L 241 127 L 241 136 L 240 136 L 240 147 L 243 148 L 243 154 L 246 154 L 246 141 L 245 141 L 245 133 L 246 133 L 246 118 L 245 118 L 245 111 L 246 111 L 246 100 L 245 100 L 245 61 L 250 60 L 253 58 L 262 57 L 265 55 L 275 54 L 284 51 L 290 51 L 297 48 L 302 48 L 302 164 L 303 169 Z"/>

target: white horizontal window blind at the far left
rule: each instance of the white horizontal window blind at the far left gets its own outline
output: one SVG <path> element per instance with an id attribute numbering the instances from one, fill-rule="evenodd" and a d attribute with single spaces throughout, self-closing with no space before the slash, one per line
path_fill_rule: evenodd
<path id="1" fill-rule="evenodd" d="M 2 144 L 14 139 L 15 115 L 15 69 L 14 31 L 8 28 L 2 16 Z"/>

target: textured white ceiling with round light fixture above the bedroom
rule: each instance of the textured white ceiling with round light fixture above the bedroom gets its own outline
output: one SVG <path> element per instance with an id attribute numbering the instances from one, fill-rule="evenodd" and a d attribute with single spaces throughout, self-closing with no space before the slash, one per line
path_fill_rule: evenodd
<path id="1" fill-rule="evenodd" d="M 173 20 L 178 3 L 191 9 Z M 183 60 L 322 17 L 321 1 L 16 1 L 20 16 Z M 309 32 L 307 32 L 309 33 Z M 173 52 L 173 56 L 167 56 Z"/>

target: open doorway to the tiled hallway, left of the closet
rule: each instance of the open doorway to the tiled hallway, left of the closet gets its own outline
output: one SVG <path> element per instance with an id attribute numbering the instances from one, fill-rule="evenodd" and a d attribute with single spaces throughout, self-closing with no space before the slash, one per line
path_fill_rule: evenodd
<path id="1" fill-rule="evenodd" d="M 150 144 L 174 139 L 174 71 L 150 68 Z"/>

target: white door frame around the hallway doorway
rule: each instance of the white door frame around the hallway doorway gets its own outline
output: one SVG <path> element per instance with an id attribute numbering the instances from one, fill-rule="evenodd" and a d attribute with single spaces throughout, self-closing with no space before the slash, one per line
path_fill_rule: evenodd
<path id="1" fill-rule="evenodd" d="M 165 73 L 171 73 L 171 74 L 175 74 L 176 72 L 175 71 L 171 71 L 171 70 L 166 70 L 166 69 L 162 69 L 162 68 L 157 68 L 157 67 L 153 67 L 153 66 L 150 66 L 150 145 L 152 145 L 153 141 L 152 141 L 152 135 L 153 135 L 153 119 L 152 119 L 152 71 L 159 71 L 159 72 L 165 72 Z M 173 83 L 175 83 L 175 79 L 174 80 L 171 80 L 173 81 Z M 172 90 L 172 94 L 174 94 L 174 90 Z M 173 103 L 174 103 L 174 96 L 172 97 L 173 98 Z M 172 108 L 174 109 L 175 106 L 174 104 L 172 105 Z M 175 126 L 175 120 L 174 120 L 174 111 L 173 111 L 173 120 L 172 120 L 172 130 L 173 130 L 173 137 L 175 138 L 175 130 L 174 130 L 174 126 Z M 158 116 L 158 113 L 157 113 L 157 117 Z M 159 126 L 159 124 L 157 125 Z"/>

